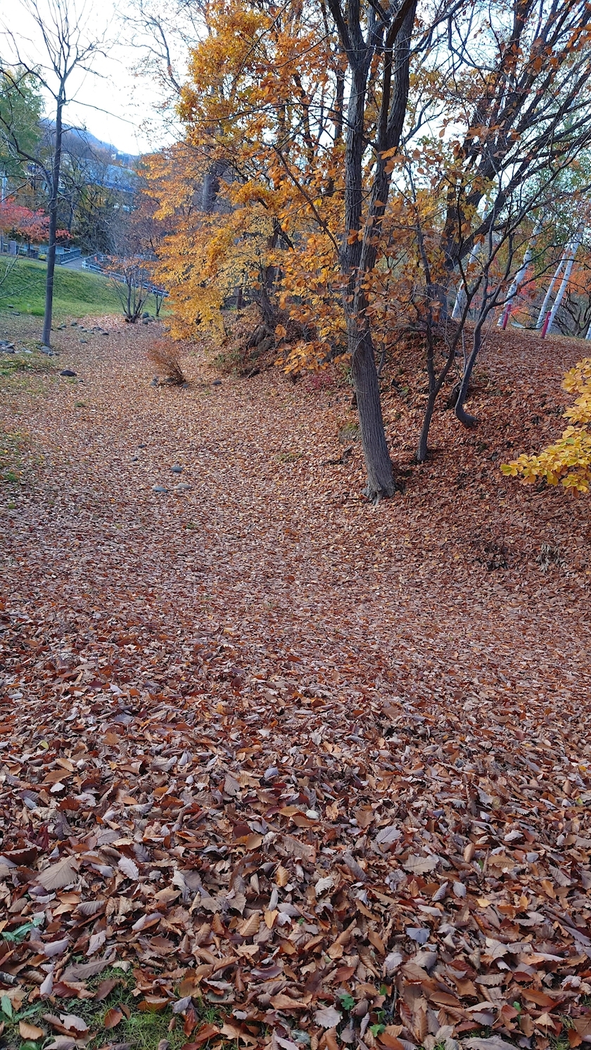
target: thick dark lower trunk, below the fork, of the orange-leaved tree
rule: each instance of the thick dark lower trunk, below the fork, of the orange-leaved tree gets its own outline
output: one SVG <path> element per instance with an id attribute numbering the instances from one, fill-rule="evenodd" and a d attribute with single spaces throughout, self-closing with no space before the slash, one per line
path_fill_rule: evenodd
<path id="1" fill-rule="evenodd" d="M 378 373 L 368 329 L 359 332 L 357 326 L 352 324 L 350 350 L 361 443 L 367 471 L 365 495 L 373 502 L 379 502 L 394 496 L 396 483 L 385 439 Z"/>

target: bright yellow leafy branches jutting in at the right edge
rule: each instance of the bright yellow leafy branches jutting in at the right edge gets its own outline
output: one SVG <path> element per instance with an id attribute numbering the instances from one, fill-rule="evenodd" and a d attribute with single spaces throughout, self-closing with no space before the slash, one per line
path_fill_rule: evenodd
<path id="1" fill-rule="evenodd" d="M 558 482 L 574 492 L 589 492 L 591 484 L 591 357 L 586 357 L 563 380 L 563 388 L 578 394 L 565 417 L 578 426 L 567 426 L 554 444 L 533 456 L 519 456 L 501 467 L 503 474 L 519 478 L 524 484 L 545 480 L 549 485 Z"/>

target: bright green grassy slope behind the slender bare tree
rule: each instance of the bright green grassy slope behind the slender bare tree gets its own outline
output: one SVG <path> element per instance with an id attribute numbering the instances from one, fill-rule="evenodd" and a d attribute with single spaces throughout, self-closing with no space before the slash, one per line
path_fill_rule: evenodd
<path id="1" fill-rule="evenodd" d="M 19 259 L 6 280 L 0 285 L 0 311 L 12 314 L 13 307 L 21 314 L 43 317 L 45 306 L 45 264 Z M 1 273 L 0 273 L 1 276 Z M 153 315 L 150 296 L 146 310 Z M 54 317 L 87 317 L 89 314 L 119 314 L 121 303 L 108 279 L 85 270 L 56 267 L 54 285 Z"/>

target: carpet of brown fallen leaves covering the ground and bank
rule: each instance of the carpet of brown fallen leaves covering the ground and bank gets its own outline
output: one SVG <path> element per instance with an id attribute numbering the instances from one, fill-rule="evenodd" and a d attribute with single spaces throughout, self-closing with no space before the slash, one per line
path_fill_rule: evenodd
<path id="1" fill-rule="evenodd" d="M 55 1050 L 113 965 L 191 1050 L 591 1042 L 589 504 L 499 471 L 581 344 L 491 337 L 422 467 L 398 383 L 367 507 L 346 387 L 150 385 L 102 324 L 2 390 L 2 1002 Z"/>

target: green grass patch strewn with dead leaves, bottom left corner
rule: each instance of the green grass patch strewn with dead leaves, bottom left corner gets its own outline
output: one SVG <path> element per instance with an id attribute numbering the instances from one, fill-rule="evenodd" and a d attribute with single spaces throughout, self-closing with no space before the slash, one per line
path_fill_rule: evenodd
<path id="1" fill-rule="evenodd" d="M 2 1045 L 6 1050 L 43 1050 L 54 1042 L 56 1032 L 43 1020 L 44 1013 L 59 1016 L 62 1013 L 76 1014 L 87 1024 L 90 1038 L 86 1043 L 87 1050 L 97 1050 L 109 1043 L 128 1043 L 135 1050 L 157 1050 L 161 1040 L 166 1040 L 170 1050 L 182 1050 L 191 1038 L 183 1031 L 184 1017 L 173 1014 L 171 1007 L 166 1010 L 141 1010 L 144 995 L 135 989 L 135 979 L 131 972 L 108 967 L 103 972 L 86 982 L 89 991 L 96 993 L 104 981 L 114 980 L 117 985 L 102 1002 L 94 999 L 56 999 L 35 1002 L 33 1005 L 22 1003 L 20 1009 L 0 1010 L 0 1020 L 4 1022 Z M 193 1000 L 198 1021 L 195 1030 L 203 1024 L 214 1024 L 219 1027 L 225 1017 L 218 1009 L 208 1006 L 198 1000 Z M 4 1003 L 4 998 L 2 999 Z M 105 1017 L 111 1010 L 121 1009 L 122 1020 L 112 1028 L 105 1028 Z M 126 1016 L 129 1013 L 129 1017 Z M 9 1015 L 12 1013 L 12 1015 Z M 43 1029 L 44 1034 L 38 1040 L 23 1040 L 19 1031 L 19 1022 L 24 1021 Z M 216 1036 L 219 1041 L 219 1036 Z M 207 1043 L 204 1044 L 207 1048 Z"/>

